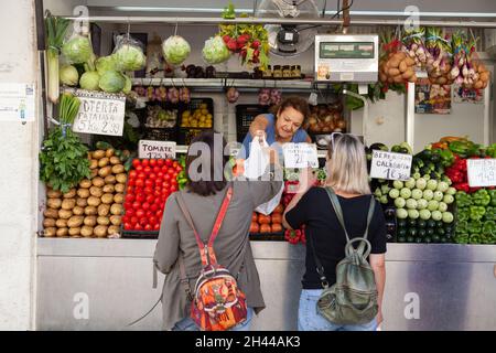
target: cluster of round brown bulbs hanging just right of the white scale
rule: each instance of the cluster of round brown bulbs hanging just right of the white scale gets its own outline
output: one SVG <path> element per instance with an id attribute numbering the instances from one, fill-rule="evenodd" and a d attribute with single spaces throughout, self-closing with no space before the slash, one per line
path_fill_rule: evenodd
<path id="1" fill-rule="evenodd" d="M 403 52 L 390 53 L 379 63 L 379 79 L 382 83 L 401 84 L 416 82 L 416 61 Z"/>

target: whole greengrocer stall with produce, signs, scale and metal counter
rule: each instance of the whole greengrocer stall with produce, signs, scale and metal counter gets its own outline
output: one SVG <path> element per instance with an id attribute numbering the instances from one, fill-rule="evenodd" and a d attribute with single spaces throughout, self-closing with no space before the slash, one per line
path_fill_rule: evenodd
<path id="1" fill-rule="evenodd" d="M 304 128 L 321 182 L 332 132 L 360 135 L 367 146 L 373 192 L 388 222 L 384 329 L 495 329 L 495 312 L 487 310 L 496 308 L 494 63 L 479 55 L 473 31 L 441 21 L 398 31 L 391 22 L 377 33 L 366 26 L 373 21 L 362 20 L 359 35 L 353 26 L 345 35 L 301 34 L 310 45 L 315 41 L 310 50 L 308 41 L 277 46 L 270 34 L 288 31 L 284 23 L 324 31 L 345 22 L 319 11 L 288 20 L 257 11 L 238 18 L 234 10 L 181 19 L 106 13 L 80 31 L 65 18 L 45 18 L 50 132 L 40 153 L 37 328 L 159 329 L 160 310 L 136 327 L 127 323 L 159 297 L 151 258 L 164 203 L 186 182 L 187 145 L 212 128 L 241 142 L 258 114 L 295 94 L 310 95 Z M 212 33 L 198 38 L 205 24 Z M 281 50 L 291 55 L 274 55 Z M 339 66 L 343 60 L 349 62 Z M 405 117 L 395 122 L 401 133 L 369 113 L 391 92 L 403 101 L 392 113 Z M 427 146 L 419 138 L 417 115 L 449 118 L 472 108 L 484 121 L 475 137 L 448 136 L 453 129 L 444 120 Z M 230 147 L 236 173 L 239 146 Z M 259 330 L 295 329 L 305 235 L 304 227 L 281 225 L 298 170 L 288 168 L 284 179 L 281 204 L 252 215 L 251 246 L 268 308 L 255 321 Z"/>

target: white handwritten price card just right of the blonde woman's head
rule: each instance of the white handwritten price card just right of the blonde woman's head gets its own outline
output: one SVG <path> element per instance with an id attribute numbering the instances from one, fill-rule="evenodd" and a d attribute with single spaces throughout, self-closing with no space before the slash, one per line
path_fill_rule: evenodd
<path id="1" fill-rule="evenodd" d="M 370 178 L 386 180 L 409 180 L 411 154 L 373 150 Z"/>

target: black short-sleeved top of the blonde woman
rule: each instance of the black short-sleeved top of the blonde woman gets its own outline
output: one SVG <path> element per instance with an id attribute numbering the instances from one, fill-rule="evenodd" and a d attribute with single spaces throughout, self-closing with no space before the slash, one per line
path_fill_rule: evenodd
<path id="1" fill-rule="evenodd" d="M 370 195 L 351 199 L 338 195 L 337 199 L 343 210 L 349 237 L 364 236 Z M 312 237 L 317 257 L 324 266 L 328 285 L 334 285 L 336 282 L 336 265 L 345 258 L 346 235 L 337 221 L 325 189 L 311 188 L 294 208 L 285 214 L 285 221 L 293 229 L 305 224 L 306 238 Z M 367 239 L 371 245 L 371 254 L 386 253 L 386 221 L 382 207 L 377 201 Z M 322 289 L 310 245 L 306 246 L 305 267 L 302 280 L 303 289 Z"/>

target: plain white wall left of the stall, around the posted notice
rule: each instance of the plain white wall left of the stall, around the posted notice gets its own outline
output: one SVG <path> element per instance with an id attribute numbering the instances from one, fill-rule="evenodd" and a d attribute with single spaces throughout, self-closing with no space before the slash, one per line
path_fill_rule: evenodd
<path id="1" fill-rule="evenodd" d="M 33 1 L 2 3 L 1 83 L 34 83 L 37 74 Z M 0 330 L 33 328 L 33 268 L 37 204 L 35 122 L 0 117 Z"/>

